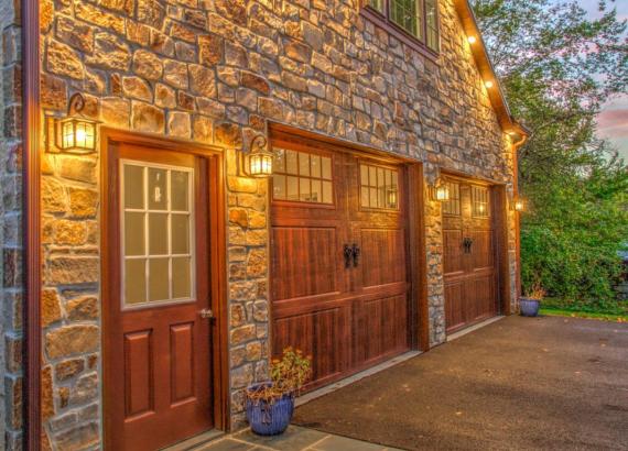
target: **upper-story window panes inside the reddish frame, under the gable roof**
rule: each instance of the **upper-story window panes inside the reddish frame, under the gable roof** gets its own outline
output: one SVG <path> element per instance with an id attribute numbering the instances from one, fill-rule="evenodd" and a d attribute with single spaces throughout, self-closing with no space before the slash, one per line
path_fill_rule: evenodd
<path id="1" fill-rule="evenodd" d="M 433 52 L 438 52 L 437 0 L 367 0 L 379 22 L 401 29 Z"/>

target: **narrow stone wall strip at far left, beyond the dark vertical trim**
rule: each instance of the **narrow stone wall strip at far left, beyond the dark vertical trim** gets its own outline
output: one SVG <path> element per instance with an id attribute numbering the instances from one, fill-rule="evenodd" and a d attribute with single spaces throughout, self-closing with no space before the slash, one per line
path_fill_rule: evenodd
<path id="1" fill-rule="evenodd" d="M 19 2 L 0 0 L 0 448 L 22 447 L 22 178 Z"/>

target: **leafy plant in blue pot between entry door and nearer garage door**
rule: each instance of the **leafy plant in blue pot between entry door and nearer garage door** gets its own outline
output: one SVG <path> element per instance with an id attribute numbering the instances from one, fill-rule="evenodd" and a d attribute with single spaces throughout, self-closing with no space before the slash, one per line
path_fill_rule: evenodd
<path id="1" fill-rule="evenodd" d="M 282 433 L 292 420 L 294 398 L 312 375 L 312 358 L 286 348 L 273 359 L 270 381 L 247 388 L 246 410 L 251 430 L 260 436 Z"/>

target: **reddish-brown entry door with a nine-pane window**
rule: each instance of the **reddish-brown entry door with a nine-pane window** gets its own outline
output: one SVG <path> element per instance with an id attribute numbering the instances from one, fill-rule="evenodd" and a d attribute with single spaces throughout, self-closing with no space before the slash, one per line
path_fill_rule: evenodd
<path id="1" fill-rule="evenodd" d="M 212 429 L 208 160 L 109 147 L 107 448 L 156 450 Z"/>

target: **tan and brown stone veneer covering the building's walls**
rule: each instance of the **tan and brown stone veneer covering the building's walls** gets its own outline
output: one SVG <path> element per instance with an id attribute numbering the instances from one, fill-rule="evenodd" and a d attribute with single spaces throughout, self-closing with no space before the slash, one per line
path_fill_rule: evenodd
<path id="1" fill-rule="evenodd" d="M 20 448 L 19 26 L 2 22 L 2 365 L 6 449 Z M 267 183 L 242 178 L 236 148 L 267 120 L 505 182 L 500 130 L 452 0 L 441 0 L 433 62 L 375 28 L 357 0 L 41 0 L 42 108 L 83 92 L 107 127 L 226 148 L 232 427 L 269 355 Z M 42 136 L 42 148 L 43 145 Z M 101 443 L 99 160 L 43 154 L 44 449 Z M 430 341 L 445 340 L 440 205 L 424 204 Z M 509 212 L 515 293 L 515 218 Z M 18 307 L 15 307 L 18 306 Z M 0 409 L 1 410 L 1 409 Z"/>

